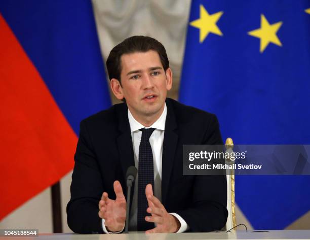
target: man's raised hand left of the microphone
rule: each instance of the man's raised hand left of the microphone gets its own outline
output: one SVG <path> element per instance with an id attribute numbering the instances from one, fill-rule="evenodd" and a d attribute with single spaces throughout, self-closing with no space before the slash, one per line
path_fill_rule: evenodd
<path id="1" fill-rule="evenodd" d="M 122 231 L 126 221 L 126 199 L 119 181 L 113 184 L 116 199 L 108 198 L 103 192 L 99 201 L 99 217 L 104 219 L 104 225 L 110 232 Z"/>

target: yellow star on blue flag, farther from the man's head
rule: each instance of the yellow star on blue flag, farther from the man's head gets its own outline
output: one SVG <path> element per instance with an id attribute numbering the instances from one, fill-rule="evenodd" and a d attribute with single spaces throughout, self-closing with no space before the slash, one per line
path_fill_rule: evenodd
<path id="1" fill-rule="evenodd" d="M 260 39 L 259 51 L 263 52 L 269 43 L 274 43 L 278 46 L 282 46 L 276 34 L 281 25 L 282 22 L 277 22 L 270 25 L 265 16 L 261 14 L 260 28 L 249 31 L 248 34 Z"/>

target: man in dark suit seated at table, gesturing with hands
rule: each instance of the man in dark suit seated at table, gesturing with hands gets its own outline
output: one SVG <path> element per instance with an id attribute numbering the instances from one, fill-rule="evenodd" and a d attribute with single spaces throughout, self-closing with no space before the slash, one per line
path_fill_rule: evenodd
<path id="1" fill-rule="evenodd" d="M 227 219 L 225 176 L 182 174 L 183 145 L 222 144 L 215 115 L 166 98 L 172 72 L 157 40 L 128 38 L 111 50 L 106 64 L 111 90 L 125 102 L 81 122 L 69 227 L 78 233 L 122 232 L 125 175 L 135 165 L 131 230 L 221 229 Z"/>

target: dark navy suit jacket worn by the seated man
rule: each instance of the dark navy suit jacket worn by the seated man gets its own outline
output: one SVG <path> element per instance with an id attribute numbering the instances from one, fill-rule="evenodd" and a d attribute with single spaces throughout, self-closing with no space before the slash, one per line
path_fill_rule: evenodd
<path id="1" fill-rule="evenodd" d="M 179 214 L 192 232 L 220 230 L 227 220 L 225 176 L 183 176 L 184 144 L 222 144 L 214 114 L 167 98 L 162 157 L 162 203 Z M 103 233 L 98 203 L 106 191 L 115 199 L 113 182 L 125 194 L 125 175 L 134 166 L 126 103 L 112 106 L 81 122 L 74 155 L 67 221 L 77 233 Z M 133 194 L 131 194 L 133 196 Z"/>

